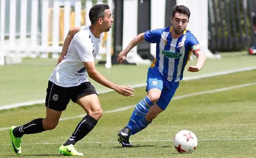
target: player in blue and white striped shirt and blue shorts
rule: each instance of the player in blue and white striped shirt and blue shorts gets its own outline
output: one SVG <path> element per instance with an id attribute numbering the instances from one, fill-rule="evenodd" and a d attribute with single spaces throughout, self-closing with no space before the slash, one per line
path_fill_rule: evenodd
<path id="1" fill-rule="evenodd" d="M 192 53 L 196 55 L 195 66 L 187 71 L 197 72 L 203 68 L 205 55 L 197 39 L 187 30 L 190 11 L 184 5 L 175 6 L 171 17 L 171 27 L 148 30 L 138 34 L 129 45 L 119 53 L 117 61 L 122 63 L 127 53 L 142 41 L 156 43 L 156 58 L 148 69 L 147 96 L 136 105 L 128 124 L 118 132 L 118 141 L 123 147 L 130 147 L 130 135 L 143 130 L 163 112 L 171 101 L 179 81 L 183 78 L 185 65 Z"/>

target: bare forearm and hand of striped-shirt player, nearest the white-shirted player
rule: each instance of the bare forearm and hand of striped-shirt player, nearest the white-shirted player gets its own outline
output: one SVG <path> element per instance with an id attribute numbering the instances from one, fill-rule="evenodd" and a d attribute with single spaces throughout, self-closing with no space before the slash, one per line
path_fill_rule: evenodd
<path id="1" fill-rule="evenodd" d="M 119 53 L 117 61 L 120 64 L 126 59 L 127 54 L 132 48 L 134 48 L 135 46 L 137 46 L 138 44 L 140 44 L 142 41 L 145 40 L 144 34 L 145 32 L 138 34 L 134 39 L 131 40 L 128 46 L 124 50 L 122 50 L 122 52 Z"/>

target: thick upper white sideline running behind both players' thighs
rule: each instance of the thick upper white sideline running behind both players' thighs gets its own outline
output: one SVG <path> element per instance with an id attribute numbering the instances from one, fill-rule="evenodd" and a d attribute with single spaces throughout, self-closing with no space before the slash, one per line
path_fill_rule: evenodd
<path id="1" fill-rule="evenodd" d="M 256 69 L 256 66 L 247 67 L 247 68 L 242 68 L 242 69 L 235 69 L 235 70 L 229 70 L 229 71 L 223 71 L 223 72 L 217 72 L 217 73 L 210 73 L 210 74 L 205 74 L 205 75 L 185 77 L 182 80 L 195 80 L 195 79 L 200 79 L 200 78 L 209 78 L 209 77 L 213 77 L 213 76 L 221 76 L 221 75 L 227 75 L 227 74 L 230 74 L 230 73 L 237 73 L 237 72 L 242 72 L 242 71 L 251 71 L 251 70 L 255 70 L 255 69 Z M 145 83 L 133 85 L 131 87 L 132 88 L 138 88 L 138 87 L 144 87 L 144 86 L 146 86 Z M 108 89 L 108 90 L 105 90 L 105 91 L 101 91 L 98 94 L 103 94 L 103 93 L 108 93 L 108 92 L 113 92 L 113 90 Z M 21 107 L 21 106 L 28 106 L 28 105 L 35 105 L 35 104 L 43 104 L 43 103 L 45 103 L 45 100 L 28 101 L 28 102 L 16 103 L 16 104 L 12 104 L 12 105 L 3 105 L 3 106 L 0 106 L 0 110 L 18 108 L 18 107 Z"/>

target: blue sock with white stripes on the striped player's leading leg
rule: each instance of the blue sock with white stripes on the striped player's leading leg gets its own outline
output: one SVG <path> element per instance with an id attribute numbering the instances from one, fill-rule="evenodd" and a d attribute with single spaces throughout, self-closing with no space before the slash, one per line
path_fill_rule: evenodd
<path id="1" fill-rule="evenodd" d="M 145 98 L 143 98 L 135 107 L 133 113 L 131 114 L 131 118 L 127 124 L 127 127 L 129 127 L 131 129 L 131 134 L 134 135 L 135 133 L 141 131 L 142 129 L 146 128 L 148 124 L 143 124 L 141 125 L 140 122 L 145 122 L 145 115 L 148 113 L 148 110 L 150 109 L 150 107 L 154 105 L 154 103 L 152 103 L 150 101 L 150 99 L 148 98 L 148 96 L 146 96 Z M 143 119 L 145 121 L 143 121 Z M 146 121 L 148 122 L 148 121 Z M 137 129 L 135 129 L 135 126 L 137 126 Z M 142 128 L 142 126 L 145 126 L 144 128 Z M 141 129 L 142 128 L 142 129 Z M 141 130 L 139 130 L 141 129 Z"/>

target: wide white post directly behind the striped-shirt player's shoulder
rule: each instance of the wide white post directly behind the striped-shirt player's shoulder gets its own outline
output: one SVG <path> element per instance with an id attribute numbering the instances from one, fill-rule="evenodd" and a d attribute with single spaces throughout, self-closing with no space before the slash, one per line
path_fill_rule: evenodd
<path id="1" fill-rule="evenodd" d="M 165 27 L 165 7 L 166 0 L 151 0 L 151 30 Z M 150 54 L 154 57 L 156 56 L 156 45 L 150 44 Z"/>

